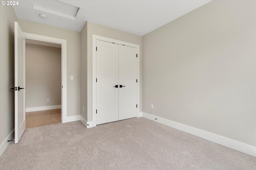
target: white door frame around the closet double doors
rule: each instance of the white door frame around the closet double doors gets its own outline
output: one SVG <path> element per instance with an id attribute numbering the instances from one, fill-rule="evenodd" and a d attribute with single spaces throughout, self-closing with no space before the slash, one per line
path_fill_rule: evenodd
<path id="1" fill-rule="evenodd" d="M 96 116 L 96 108 L 97 108 L 97 97 L 96 97 L 97 96 L 97 91 L 96 91 L 97 90 L 97 85 L 96 85 L 97 53 L 96 53 L 96 47 L 97 47 L 97 40 L 136 48 L 136 53 L 138 55 L 138 62 L 137 62 L 137 79 L 138 79 L 138 83 L 137 83 L 137 105 L 138 105 L 137 117 L 141 117 L 141 115 L 140 115 L 140 45 L 92 34 L 92 127 L 95 127 L 96 122 L 97 122 L 97 116 Z"/>

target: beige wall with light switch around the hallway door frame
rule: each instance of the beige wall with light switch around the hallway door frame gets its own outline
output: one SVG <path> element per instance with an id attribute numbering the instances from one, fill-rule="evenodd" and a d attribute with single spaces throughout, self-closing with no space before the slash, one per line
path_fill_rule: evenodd
<path id="1" fill-rule="evenodd" d="M 80 115 L 80 32 L 22 19 L 18 23 L 24 32 L 67 40 L 67 116 Z"/>

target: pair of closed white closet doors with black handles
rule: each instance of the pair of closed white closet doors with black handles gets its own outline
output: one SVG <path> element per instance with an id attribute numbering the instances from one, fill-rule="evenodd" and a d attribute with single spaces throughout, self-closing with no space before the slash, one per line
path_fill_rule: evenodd
<path id="1" fill-rule="evenodd" d="M 96 53 L 96 124 L 136 117 L 136 48 L 97 40 Z"/>

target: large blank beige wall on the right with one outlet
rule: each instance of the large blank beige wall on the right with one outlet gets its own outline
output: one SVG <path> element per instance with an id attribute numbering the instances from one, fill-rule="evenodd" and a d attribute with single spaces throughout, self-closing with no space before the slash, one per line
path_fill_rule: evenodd
<path id="1" fill-rule="evenodd" d="M 256 146 L 255 9 L 212 1 L 144 35 L 142 111 Z"/>

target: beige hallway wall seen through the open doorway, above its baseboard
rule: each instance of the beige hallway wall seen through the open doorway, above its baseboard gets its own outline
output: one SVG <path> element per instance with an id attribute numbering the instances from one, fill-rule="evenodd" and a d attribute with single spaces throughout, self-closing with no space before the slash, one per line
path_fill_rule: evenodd
<path id="1" fill-rule="evenodd" d="M 27 43 L 26 108 L 61 105 L 61 90 L 61 48 Z"/>

